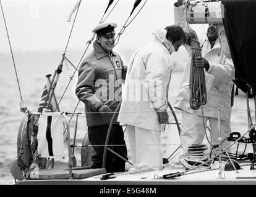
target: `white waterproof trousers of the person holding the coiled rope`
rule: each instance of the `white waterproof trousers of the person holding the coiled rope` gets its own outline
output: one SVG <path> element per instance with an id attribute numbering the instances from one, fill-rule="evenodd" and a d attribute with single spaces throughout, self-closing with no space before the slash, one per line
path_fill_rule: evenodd
<path id="1" fill-rule="evenodd" d="M 210 122 L 210 137 L 208 137 L 208 139 L 213 145 L 218 144 L 219 129 L 217 118 L 202 118 L 202 116 L 197 115 L 197 111 L 194 113 L 187 113 L 186 111 L 182 111 L 181 145 L 183 153 L 181 156 L 189 155 L 187 148 L 190 145 L 204 143 L 203 140 L 205 139 L 205 129 L 203 127 L 203 121 L 205 122 L 205 126 L 207 126 L 207 120 Z M 229 136 L 229 132 L 231 132 L 230 121 L 221 120 L 220 126 L 221 138 L 224 140 Z M 209 129 L 206 129 L 206 131 L 207 134 L 209 134 Z M 222 145 L 222 149 L 228 147 L 229 144 L 230 143 L 225 140 Z"/>

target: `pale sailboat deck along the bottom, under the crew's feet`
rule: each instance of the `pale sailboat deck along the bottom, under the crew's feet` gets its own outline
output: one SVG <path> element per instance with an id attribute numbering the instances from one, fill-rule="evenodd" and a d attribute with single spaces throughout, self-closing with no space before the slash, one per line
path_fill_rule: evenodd
<path id="1" fill-rule="evenodd" d="M 236 171 L 224 171 L 224 179 L 218 178 L 219 170 L 185 174 L 174 179 L 155 179 L 156 175 L 183 172 L 183 167 L 165 168 L 162 171 L 148 171 L 137 174 L 115 174 L 113 179 L 101 180 L 101 175 L 95 175 L 85 179 L 51 179 L 51 180 L 27 180 L 17 184 L 82 184 L 82 185 L 256 185 L 256 170 L 250 170 L 250 166 L 242 166 Z M 198 170 L 199 171 L 199 170 Z M 195 171 L 190 171 L 195 172 Z M 188 173 L 190 173 L 188 172 Z"/>

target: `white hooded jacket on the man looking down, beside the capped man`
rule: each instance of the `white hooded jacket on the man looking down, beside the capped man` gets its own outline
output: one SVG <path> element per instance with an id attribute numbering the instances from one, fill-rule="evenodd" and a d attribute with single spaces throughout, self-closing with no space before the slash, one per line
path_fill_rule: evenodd
<path id="1" fill-rule="evenodd" d="M 172 48 L 163 28 L 153 32 L 155 39 L 130 58 L 122 104 L 117 121 L 145 129 L 164 131 L 158 113 L 168 107 Z"/>

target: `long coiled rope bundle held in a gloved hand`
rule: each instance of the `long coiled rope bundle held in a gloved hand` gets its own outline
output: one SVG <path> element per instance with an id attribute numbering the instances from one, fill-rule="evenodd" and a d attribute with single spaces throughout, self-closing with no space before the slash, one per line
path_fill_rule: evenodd
<path id="1" fill-rule="evenodd" d="M 196 57 L 202 57 L 200 42 L 194 30 L 186 30 L 190 38 L 191 65 L 190 65 L 190 100 L 192 110 L 198 110 L 207 103 L 207 89 L 205 86 L 205 71 L 203 67 L 195 66 Z"/>

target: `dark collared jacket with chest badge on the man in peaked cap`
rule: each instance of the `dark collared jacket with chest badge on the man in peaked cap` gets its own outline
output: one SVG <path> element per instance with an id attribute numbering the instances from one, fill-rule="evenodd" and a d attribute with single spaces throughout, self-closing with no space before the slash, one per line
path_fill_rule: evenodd
<path id="1" fill-rule="evenodd" d="M 87 126 L 109 124 L 113 113 L 103 116 L 97 109 L 106 103 L 114 112 L 121 100 L 121 83 L 125 79 L 127 66 L 120 55 L 108 53 L 93 42 L 93 51 L 85 57 L 79 68 L 75 94 L 85 104 Z M 114 124 L 117 124 L 116 119 Z"/>

